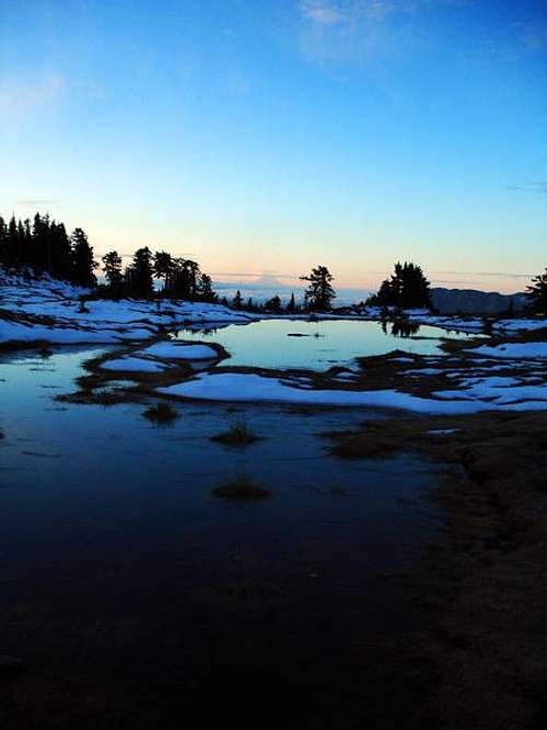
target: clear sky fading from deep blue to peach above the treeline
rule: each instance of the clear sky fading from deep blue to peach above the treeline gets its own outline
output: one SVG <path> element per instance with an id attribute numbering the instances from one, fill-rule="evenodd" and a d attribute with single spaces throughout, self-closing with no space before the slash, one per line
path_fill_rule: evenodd
<path id="1" fill-rule="evenodd" d="M 224 286 L 547 266 L 547 3 L 2 0 L 0 213 Z"/>

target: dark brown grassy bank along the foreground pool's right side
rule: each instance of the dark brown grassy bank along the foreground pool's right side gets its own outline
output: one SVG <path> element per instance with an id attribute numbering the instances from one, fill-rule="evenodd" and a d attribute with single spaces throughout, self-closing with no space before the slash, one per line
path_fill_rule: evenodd
<path id="1" fill-rule="evenodd" d="M 547 414 L 375 421 L 334 451 L 357 459 L 412 449 L 458 467 L 437 494 L 445 540 L 414 579 L 431 616 L 416 647 L 437 677 L 426 712 L 443 730 L 545 727 Z"/>

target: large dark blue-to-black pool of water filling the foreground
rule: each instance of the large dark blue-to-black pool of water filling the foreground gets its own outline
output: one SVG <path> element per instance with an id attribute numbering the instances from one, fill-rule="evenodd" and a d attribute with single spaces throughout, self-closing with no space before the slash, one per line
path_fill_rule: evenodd
<path id="1" fill-rule="evenodd" d="M 432 467 L 329 456 L 356 409 L 182 404 L 161 428 L 56 403 L 92 355 L 0 362 L 0 654 L 28 665 L 1 727 L 414 727 L 393 576 L 439 528 Z M 236 419 L 266 438 L 209 440 Z M 210 495 L 242 472 L 271 497 Z"/>

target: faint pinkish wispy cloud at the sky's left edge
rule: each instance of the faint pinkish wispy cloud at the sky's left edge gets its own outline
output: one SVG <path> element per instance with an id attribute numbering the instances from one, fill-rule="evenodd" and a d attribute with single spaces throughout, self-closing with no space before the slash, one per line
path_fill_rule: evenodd
<path id="1" fill-rule="evenodd" d="M 59 73 L 46 73 L 39 79 L 0 77 L 0 112 L 11 116 L 28 113 L 53 102 L 65 86 Z"/>

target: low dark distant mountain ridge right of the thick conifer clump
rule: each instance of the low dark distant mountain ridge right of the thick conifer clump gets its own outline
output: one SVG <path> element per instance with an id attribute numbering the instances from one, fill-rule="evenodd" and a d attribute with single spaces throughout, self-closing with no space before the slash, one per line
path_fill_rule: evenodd
<path id="1" fill-rule="evenodd" d="M 441 314 L 503 314 L 511 309 L 519 312 L 527 304 L 523 292 L 500 294 L 478 289 L 431 289 L 431 301 Z"/>

